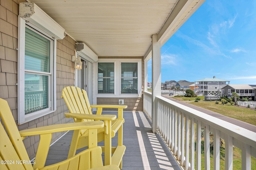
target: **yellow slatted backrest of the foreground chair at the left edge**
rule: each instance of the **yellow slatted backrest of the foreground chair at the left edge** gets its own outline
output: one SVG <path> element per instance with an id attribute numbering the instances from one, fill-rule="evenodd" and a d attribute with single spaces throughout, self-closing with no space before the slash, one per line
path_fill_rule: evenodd
<path id="1" fill-rule="evenodd" d="M 24 143 L 20 137 L 17 125 L 12 116 L 8 102 L 0 98 L 0 117 L 6 128 L 0 123 L 0 159 L 8 164 L 0 164 L 0 169 L 33 170 L 31 164 L 19 164 L 17 161 L 30 161 Z M 8 135 L 7 135 L 7 133 Z"/>

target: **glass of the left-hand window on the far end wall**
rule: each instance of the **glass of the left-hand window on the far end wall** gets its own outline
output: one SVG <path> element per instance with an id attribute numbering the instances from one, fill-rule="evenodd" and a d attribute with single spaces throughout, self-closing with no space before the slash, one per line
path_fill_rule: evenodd
<path id="1" fill-rule="evenodd" d="M 98 63 L 98 94 L 114 94 L 114 63 Z"/>

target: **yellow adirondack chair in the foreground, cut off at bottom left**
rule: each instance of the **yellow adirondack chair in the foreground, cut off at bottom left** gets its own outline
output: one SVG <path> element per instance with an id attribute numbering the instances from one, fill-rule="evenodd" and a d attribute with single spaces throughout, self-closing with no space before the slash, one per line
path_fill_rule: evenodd
<path id="1" fill-rule="evenodd" d="M 34 129 L 18 131 L 12 112 L 6 100 L 0 98 L 0 170 L 120 170 L 116 165 L 103 166 L 102 149 L 97 146 L 97 129 L 104 127 L 102 121 L 67 123 L 60 125 L 50 125 Z M 45 166 L 46 156 L 50 147 L 52 133 L 60 131 L 80 131 L 88 129 L 89 145 L 88 149 L 68 158 L 57 164 Z M 8 134 L 7 134 L 8 133 Z M 30 159 L 26 152 L 22 139 L 26 136 L 40 135 L 40 142 L 36 158 L 30 164 Z"/>

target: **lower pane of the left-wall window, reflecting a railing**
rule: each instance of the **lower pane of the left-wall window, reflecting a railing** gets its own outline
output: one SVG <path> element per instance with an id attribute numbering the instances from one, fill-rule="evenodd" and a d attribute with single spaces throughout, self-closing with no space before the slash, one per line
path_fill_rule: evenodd
<path id="1" fill-rule="evenodd" d="M 25 115 L 48 108 L 48 78 L 25 74 Z"/>

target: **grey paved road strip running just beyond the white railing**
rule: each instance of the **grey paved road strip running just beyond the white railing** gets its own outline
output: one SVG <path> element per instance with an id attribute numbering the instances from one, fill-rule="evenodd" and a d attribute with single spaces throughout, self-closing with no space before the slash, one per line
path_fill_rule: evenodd
<path id="1" fill-rule="evenodd" d="M 170 98 L 169 96 L 166 96 L 166 95 L 162 95 L 162 97 L 167 98 L 167 99 L 169 99 L 169 100 L 172 100 L 172 101 L 174 101 L 174 102 L 177 102 L 177 103 L 179 103 L 179 104 L 182 104 L 182 105 L 184 105 L 184 106 L 188 106 L 188 107 L 190 107 L 190 108 L 192 108 L 192 109 L 196 109 L 196 110 L 201 111 L 201 112 L 203 112 L 203 113 L 206 113 L 206 114 L 208 114 L 208 115 L 217 117 L 217 118 L 222 119 L 222 120 L 224 120 L 224 121 L 227 121 L 227 122 L 229 122 L 229 123 L 233 123 L 233 124 L 235 124 L 235 125 L 238 125 L 238 126 L 240 126 L 240 127 L 243 127 L 244 129 L 248 129 L 248 130 L 253 131 L 253 132 L 256 133 L 256 126 L 255 126 L 255 125 L 251 125 L 251 124 L 249 124 L 249 123 L 246 123 L 246 122 L 243 122 L 243 121 L 240 121 L 240 120 L 231 118 L 231 117 L 227 117 L 227 116 L 221 115 L 220 113 L 216 113 L 216 112 L 214 112 L 214 111 L 210 111 L 210 110 L 207 110 L 207 109 L 204 109 L 204 108 L 201 108 L 201 107 L 194 106 L 194 105 L 192 105 L 192 104 L 188 104 L 188 103 L 186 103 L 186 102 L 182 102 L 182 101 L 176 100 L 176 99 L 174 99 L 174 98 Z"/>

